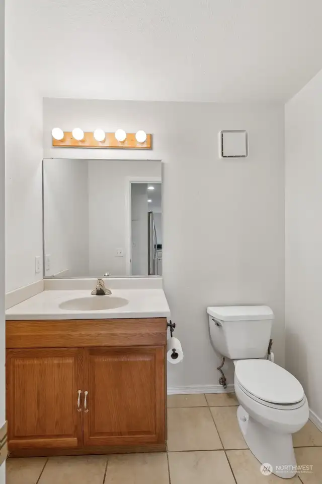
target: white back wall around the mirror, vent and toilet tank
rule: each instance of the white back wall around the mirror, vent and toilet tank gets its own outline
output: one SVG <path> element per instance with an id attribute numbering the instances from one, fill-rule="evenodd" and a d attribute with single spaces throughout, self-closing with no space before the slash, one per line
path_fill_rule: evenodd
<path id="1" fill-rule="evenodd" d="M 209 305 L 271 306 L 283 365 L 283 105 L 45 99 L 44 155 L 63 158 L 66 150 L 51 146 L 54 126 L 153 134 L 152 151 L 68 149 L 68 156 L 163 161 L 164 287 L 186 352 L 169 369 L 169 386 L 218 382 Z M 218 159 L 217 134 L 227 129 L 249 132 L 247 159 Z"/>

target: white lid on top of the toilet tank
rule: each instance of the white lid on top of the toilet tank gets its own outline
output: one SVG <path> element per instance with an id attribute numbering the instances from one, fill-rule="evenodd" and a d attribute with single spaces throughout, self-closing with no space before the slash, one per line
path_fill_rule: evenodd
<path id="1" fill-rule="evenodd" d="M 220 321 L 274 319 L 274 313 L 268 306 L 209 306 L 207 313 Z"/>

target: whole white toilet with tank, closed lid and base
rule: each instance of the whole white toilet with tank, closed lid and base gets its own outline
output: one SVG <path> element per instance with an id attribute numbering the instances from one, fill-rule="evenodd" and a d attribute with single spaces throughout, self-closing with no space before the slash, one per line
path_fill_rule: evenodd
<path id="1" fill-rule="evenodd" d="M 267 359 L 273 311 L 268 306 L 207 308 L 214 349 L 233 360 L 237 419 L 244 439 L 262 464 L 279 477 L 296 474 L 292 434 L 307 422 L 302 385 Z"/>

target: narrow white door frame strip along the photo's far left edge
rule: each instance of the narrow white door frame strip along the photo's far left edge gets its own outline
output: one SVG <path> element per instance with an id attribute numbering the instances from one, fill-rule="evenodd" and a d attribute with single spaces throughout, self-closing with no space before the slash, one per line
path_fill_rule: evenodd
<path id="1" fill-rule="evenodd" d="M 0 0 L 0 427 L 5 413 L 5 0 Z M 0 484 L 5 482 L 5 464 L 0 467 Z"/>

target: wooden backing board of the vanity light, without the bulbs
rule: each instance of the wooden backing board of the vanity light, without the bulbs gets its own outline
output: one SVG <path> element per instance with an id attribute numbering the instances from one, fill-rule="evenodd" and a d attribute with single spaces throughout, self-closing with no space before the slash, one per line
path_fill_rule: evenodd
<path id="1" fill-rule="evenodd" d="M 64 131 L 62 140 L 52 139 L 52 146 L 59 148 L 118 148 L 118 149 L 151 149 L 152 135 L 146 135 L 144 143 L 138 143 L 135 133 L 126 133 L 126 139 L 123 142 L 117 141 L 115 133 L 105 133 L 104 141 L 96 141 L 94 133 L 89 131 L 84 133 L 84 140 L 77 141 L 72 137 L 71 131 Z"/>

